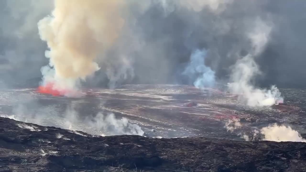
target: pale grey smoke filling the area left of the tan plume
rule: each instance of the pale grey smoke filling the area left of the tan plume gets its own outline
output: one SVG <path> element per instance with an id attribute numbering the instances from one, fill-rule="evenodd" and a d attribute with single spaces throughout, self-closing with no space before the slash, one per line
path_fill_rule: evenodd
<path id="1" fill-rule="evenodd" d="M 35 25 L 52 8 L 52 1 L 44 0 L 0 2 L 0 80 L 8 88 L 37 85 L 47 60 L 41 58 L 46 45 Z"/>

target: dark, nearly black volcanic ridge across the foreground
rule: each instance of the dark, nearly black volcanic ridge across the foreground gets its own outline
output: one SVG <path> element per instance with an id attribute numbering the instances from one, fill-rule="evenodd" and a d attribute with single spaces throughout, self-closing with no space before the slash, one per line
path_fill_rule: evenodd
<path id="1" fill-rule="evenodd" d="M 0 171 L 306 170 L 306 144 L 93 136 L 0 118 Z"/>

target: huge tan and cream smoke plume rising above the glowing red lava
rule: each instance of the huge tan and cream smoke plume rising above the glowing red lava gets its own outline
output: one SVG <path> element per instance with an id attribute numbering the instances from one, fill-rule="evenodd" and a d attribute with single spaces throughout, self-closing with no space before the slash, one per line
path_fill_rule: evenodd
<path id="1" fill-rule="evenodd" d="M 50 63 L 41 69 L 42 87 L 47 87 L 40 90 L 75 89 L 99 70 L 95 58 L 112 45 L 124 24 L 122 5 L 121 0 L 54 0 L 52 15 L 38 22 L 40 38 L 50 48 L 45 53 Z"/>

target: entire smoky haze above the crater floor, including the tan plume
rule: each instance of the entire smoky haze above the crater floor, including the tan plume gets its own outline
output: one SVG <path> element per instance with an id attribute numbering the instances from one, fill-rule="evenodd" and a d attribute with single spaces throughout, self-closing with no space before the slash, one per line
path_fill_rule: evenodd
<path id="1" fill-rule="evenodd" d="M 69 3 L 1 2 L 1 21 L 7 24 L 0 26 L 0 73 L 6 87 L 36 86 L 41 72 L 43 80 L 60 80 L 65 87 L 88 76 L 85 85 L 109 88 L 126 83 L 194 84 L 182 73 L 197 49 L 209 50 L 204 65 L 224 84 L 237 83 L 233 69 L 249 56 L 261 73 L 248 78 L 252 89 L 247 92 L 259 89 L 263 100 L 269 90 L 277 93 L 271 85 L 306 84 L 305 25 L 300 22 L 306 2 L 76 1 L 67 8 Z M 48 43 L 50 59 L 44 58 L 47 47 L 40 37 Z M 60 57 L 66 61 L 59 62 Z M 241 100 L 262 104 L 254 103 L 258 99 Z"/>

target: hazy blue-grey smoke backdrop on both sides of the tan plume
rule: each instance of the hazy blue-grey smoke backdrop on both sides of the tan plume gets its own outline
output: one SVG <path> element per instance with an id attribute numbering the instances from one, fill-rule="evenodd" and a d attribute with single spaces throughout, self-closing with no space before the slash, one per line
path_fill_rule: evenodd
<path id="1" fill-rule="evenodd" d="M 0 3 L 0 20 L 6 23 L 0 26 L 0 79 L 8 87 L 37 86 L 40 68 L 49 63 L 37 23 L 51 14 L 54 2 Z M 304 86 L 306 25 L 300 21 L 305 4 L 284 0 L 129 1 L 120 10 L 125 22 L 117 39 L 97 55 L 99 70 L 82 84 L 109 88 L 126 83 L 193 84 L 195 80 L 189 83 L 191 79 L 183 72 L 194 51 L 205 49 L 209 51 L 204 65 L 215 73 L 217 82 L 240 82 L 233 80 L 233 69 L 247 56 L 261 71 L 261 75 L 254 71 L 248 78 L 252 92 L 259 89 L 266 94 L 270 90 L 273 94 L 274 84 Z M 249 104 L 245 97 L 242 100 Z"/>

